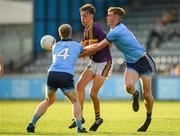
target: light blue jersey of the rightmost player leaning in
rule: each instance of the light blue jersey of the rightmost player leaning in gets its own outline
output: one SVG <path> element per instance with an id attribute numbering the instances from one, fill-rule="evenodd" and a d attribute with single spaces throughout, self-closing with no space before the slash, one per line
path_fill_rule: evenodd
<path id="1" fill-rule="evenodd" d="M 122 23 L 111 29 L 106 39 L 113 42 L 121 51 L 125 62 L 135 63 L 145 52 L 145 49 L 137 41 L 132 32 Z"/>

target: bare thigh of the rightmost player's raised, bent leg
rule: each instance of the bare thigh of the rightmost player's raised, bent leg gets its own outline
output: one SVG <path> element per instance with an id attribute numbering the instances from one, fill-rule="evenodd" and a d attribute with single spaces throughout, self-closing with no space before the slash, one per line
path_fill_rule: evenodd
<path id="1" fill-rule="evenodd" d="M 124 72 L 124 82 L 125 86 L 135 86 L 137 80 L 139 79 L 139 74 L 134 69 L 126 69 Z"/>

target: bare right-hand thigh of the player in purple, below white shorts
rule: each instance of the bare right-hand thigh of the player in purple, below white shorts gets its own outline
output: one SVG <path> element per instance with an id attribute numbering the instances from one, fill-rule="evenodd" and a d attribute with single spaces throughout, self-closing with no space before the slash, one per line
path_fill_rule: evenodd
<path id="1" fill-rule="evenodd" d="M 104 84 L 106 77 L 97 74 L 94 78 L 93 85 L 91 88 L 91 94 L 97 95 L 101 86 Z"/>

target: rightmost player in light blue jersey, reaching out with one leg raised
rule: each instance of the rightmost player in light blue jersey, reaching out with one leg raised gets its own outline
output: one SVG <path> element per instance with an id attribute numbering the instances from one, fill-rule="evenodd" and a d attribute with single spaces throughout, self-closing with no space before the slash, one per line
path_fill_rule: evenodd
<path id="1" fill-rule="evenodd" d="M 140 45 L 132 32 L 122 23 L 122 17 L 125 11 L 120 7 L 110 7 L 108 9 L 107 24 L 111 30 L 106 39 L 100 43 L 85 47 L 87 51 L 98 51 L 114 43 L 122 53 L 126 64 L 124 72 L 125 89 L 132 94 L 132 107 L 135 112 L 139 110 L 139 92 L 135 88 L 135 83 L 140 79 L 142 94 L 146 108 L 146 120 L 137 131 L 146 131 L 151 123 L 151 114 L 153 109 L 153 96 L 151 91 L 152 75 L 155 72 L 155 63 Z"/>

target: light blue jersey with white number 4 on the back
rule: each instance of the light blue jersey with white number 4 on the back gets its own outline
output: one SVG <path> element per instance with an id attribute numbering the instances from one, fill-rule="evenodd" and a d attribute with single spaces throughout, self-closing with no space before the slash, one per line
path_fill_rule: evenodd
<path id="1" fill-rule="evenodd" d="M 48 72 L 66 72 L 74 75 L 74 66 L 82 51 L 81 44 L 75 41 L 62 40 L 56 43 L 52 49 L 52 64 Z"/>

